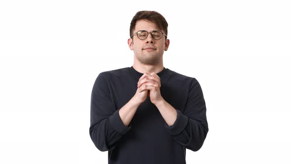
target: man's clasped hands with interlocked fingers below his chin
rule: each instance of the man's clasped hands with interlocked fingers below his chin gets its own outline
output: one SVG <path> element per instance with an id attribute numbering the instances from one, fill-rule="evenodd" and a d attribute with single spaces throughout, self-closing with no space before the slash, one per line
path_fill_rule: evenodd
<path id="1" fill-rule="evenodd" d="M 146 100 L 146 97 L 149 96 L 150 101 L 153 104 L 158 103 L 163 100 L 160 92 L 161 87 L 161 79 L 155 73 L 152 72 L 150 74 L 145 73 L 138 82 L 138 89 L 136 95 L 139 97 L 141 102 Z"/>

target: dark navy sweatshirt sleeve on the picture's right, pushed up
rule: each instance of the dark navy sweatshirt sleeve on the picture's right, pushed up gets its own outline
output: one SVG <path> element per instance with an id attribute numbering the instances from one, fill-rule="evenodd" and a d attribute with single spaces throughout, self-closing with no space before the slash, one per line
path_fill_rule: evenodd
<path id="1" fill-rule="evenodd" d="M 171 126 L 165 123 L 166 128 L 182 146 L 198 151 L 206 138 L 208 123 L 202 89 L 196 79 L 191 82 L 184 112 L 177 110 L 177 114 L 175 123 Z"/>

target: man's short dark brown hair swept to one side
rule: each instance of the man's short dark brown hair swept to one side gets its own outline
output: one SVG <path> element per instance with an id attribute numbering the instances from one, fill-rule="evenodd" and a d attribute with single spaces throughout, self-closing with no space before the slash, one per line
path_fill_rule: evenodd
<path id="1" fill-rule="evenodd" d="M 136 23 L 138 20 L 147 20 L 154 23 L 159 29 L 163 30 L 168 35 L 168 23 L 160 13 L 156 11 L 139 11 L 132 18 L 129 28 L 129 36 L 133 35 Z M 167 37 L 166 37 L 167 38 Z"/>

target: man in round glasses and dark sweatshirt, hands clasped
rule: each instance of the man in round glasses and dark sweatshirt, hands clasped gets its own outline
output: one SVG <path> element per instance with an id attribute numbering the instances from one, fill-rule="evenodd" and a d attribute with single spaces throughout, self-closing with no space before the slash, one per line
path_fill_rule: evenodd
<path id="1" fill-rule="evenodd" d="M 109 164 L 185 164 L 208 132 L 206 106 L 196 79 L 163 66 L 168 23 L 139 11 L 130 25 L 132 67 L 102 72 L 91 97 L 90 136 Z"/>

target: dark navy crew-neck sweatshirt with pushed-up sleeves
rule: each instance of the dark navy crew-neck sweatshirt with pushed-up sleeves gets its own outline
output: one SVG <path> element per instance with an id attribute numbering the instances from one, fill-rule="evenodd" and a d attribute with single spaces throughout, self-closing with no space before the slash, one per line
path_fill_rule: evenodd
<path id="1" fill-rule="evenodd" d="M 186 164 L 186 149 L 201 148 L 208 132 L 206 106 L 195 78 L 164 68 L 161 95 L 178 113 L 169 126 L 149 97 L 137 109 L 128 127 L 119 116 L 136 93 L 143 74 L 133 67 L 102 72 L 91 95 L 90 137 L 109 164 Z"/>

